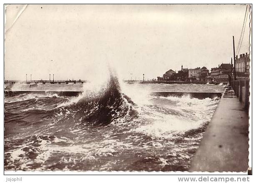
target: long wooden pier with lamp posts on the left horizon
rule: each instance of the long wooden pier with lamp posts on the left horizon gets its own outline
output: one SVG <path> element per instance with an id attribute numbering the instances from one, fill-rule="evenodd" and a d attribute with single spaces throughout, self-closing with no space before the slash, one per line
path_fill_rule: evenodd
<path id="1" fill-rule="evenodd" d="M 60 84 L 60 83 L 86 83 L 87 80 L 30 80 L 30 81 L 23 81 L 23 80 L 5 80 L 5 84 L 14 84 L 14 83 L 20 83 L 20 84 L 30 84 L 30 83 L 51 83 L 51 84 Z"/>

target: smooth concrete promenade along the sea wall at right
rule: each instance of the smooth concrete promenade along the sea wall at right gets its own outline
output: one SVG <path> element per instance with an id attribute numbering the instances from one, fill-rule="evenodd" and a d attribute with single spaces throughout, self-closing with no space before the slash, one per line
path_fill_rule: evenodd
<path id="1" fill-rule="evenodd" d="M 227 88 L 203 134 L 189 171 L 247 171 L 248 114 Z"/>

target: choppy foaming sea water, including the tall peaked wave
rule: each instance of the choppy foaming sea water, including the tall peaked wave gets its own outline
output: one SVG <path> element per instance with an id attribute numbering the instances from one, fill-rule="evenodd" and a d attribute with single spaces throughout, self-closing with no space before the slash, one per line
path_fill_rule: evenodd
<path id="1" fill-rule="evenodd" d="M 154 97 L 152 91 L 223 92 L 198 84 L 45 84 L 78 97 L 5 98 L 5 170 L 185 171 L 219 98 Z M 28 90 L 28 85 L 9 85 Z M 127 95 L 129 98 L 125 97 Z"/>

